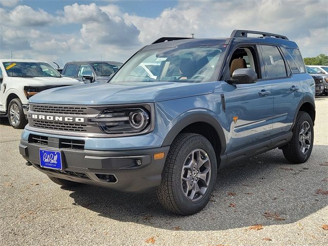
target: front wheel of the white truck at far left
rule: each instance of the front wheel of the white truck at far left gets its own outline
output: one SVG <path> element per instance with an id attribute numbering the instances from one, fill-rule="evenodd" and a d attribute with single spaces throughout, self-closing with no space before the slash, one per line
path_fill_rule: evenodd
<path id="1" fill-rule="evenodd" d="M 24 129 L 28 121 L 25 118 L 22 101 L 19 98 L 14 98 L 8 106 L 8 120 L 10 125 L 15 129 Z"/>

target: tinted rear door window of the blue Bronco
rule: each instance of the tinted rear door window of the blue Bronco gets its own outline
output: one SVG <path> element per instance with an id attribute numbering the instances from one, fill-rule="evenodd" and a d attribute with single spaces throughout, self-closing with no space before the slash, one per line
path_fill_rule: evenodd
<path id="1" fill-rule="evenodd" d="M 263 63 L 267 70 L 267 78 L 286 77 L 286 67 L 282 56 L 275 46 L 262 45 Z"/>

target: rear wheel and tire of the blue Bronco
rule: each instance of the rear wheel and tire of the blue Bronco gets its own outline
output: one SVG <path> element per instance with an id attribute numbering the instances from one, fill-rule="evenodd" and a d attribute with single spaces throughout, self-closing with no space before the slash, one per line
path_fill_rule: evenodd
<path id="1" fill-rule="evenodd" d="M 306 123 L 307 122 L 307 123 Z M 306 126 L 306 127 L 305 127 Z M 304 133 L 302 133 L 302 129 L 308 129 L 305 132 L 305 135 L 308 136 L 310 131 L 310 137 L 305 137 L 304 140 Z M 295 164 L 303 163 L 309 159 L 312 148 L 313 148 L 313 139 L 314 139 L 314 131 L 313 131 L 313 121 L 310 115 L 306 112 L 299 111 L 296 117 L 296 123 L 293 128 L 293 137 L 292 140 L 288 145 L 282 148 L 282 152 L 284 157 Z M 304 144 L 302 143 L 304 140 Z M 305 148 L 307 146 L 307 148 Z M 302 150 L 301 150 L 302 148 Z M 304 151 L 303 151 L 304 150 Z"/>

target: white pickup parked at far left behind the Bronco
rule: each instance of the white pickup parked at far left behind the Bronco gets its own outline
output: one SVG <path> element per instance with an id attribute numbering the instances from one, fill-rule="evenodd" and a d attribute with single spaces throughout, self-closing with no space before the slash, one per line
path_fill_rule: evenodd
<path id="1" fill-rule="evenodd" d="M 0 59 L 0 114 L 8 114 L 10 125 L 27 124 L 28 99 L 54 87 L 83 84 L 63 77 L 48 63 L 28 59 Z"/>

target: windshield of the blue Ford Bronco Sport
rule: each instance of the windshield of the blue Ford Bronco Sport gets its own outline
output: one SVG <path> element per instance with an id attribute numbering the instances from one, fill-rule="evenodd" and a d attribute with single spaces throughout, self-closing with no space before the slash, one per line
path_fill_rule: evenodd
<path id="1" fill-rule="evenodd" d="M 225 49 L 223 46 L 197 46 L 141 51 L 117 71 L 110 83 L 211 81 L 216 77 L 215 71 Z"/>

